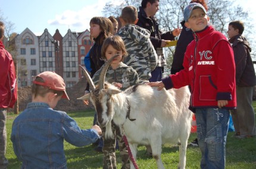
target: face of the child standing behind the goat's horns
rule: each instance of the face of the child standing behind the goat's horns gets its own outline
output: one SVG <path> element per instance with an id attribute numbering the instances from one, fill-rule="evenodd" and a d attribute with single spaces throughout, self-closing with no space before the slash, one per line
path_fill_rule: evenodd
<path id="1" fill-rule="evenodd" d="M 122 55 L 123 52 L 121 50 L 116 50 L 111 44 L 107 47 L 107 50 L 105 52 L 105 57 L 107 58 L 107 60 L 110 60 L 113 56 L 115 55 L 119 55 L 117 56 L 117 58 L 115 58 L 112 63 L 111 66 L 113 65 L 119 65 L 119 63 L 121 62 L 122 59 Z"/>

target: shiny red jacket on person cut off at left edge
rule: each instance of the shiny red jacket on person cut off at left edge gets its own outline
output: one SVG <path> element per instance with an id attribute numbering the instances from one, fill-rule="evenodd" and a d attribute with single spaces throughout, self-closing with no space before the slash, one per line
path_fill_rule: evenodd
<path id="1" fill-rule="evenodd" d="M 17 81 L 13 58 L 0 41 L 0 109 L 14 107 L 17 100 Z"/>

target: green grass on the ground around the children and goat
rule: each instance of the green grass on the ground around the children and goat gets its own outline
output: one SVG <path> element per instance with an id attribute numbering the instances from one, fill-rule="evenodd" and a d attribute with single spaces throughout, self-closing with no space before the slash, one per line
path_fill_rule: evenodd
<path id="1" fill-rule="evenodd" d="M 256 101 L 253 102 L 254 110 L 256 110 Z M 79 112 L 68 113 L 73 117 L 82 129 L 89 129 L 92 125 L 94 110 L 86 110 Z M 10 162 L 8 169 L 20 168 L 21 162 L 17 160 L 14 152 L 13 145 L 10 141 L 11 125 L 17 115 L 8 114 L 7 117 L 7 158 Z M 234 132 L 229 132 L 227 136 L 226 145 L 226 168 L 227 169 L 250 169 L 256 168 L 256 138 L 251 139 L 235 139 L 232 137 Z M 189 142 L 195 139 L 196 134 L 192 133 Z M 85 146 L 83 148 L 77 148 L 76 146 L 70 145 L 64 142 L 65 156 L 67 158 L 68 168 L 71 169 L 94 169 L 102 168 L 102 154 L 93 151 L 93 146 Z M 139 146 L 138 148 L 138 159 L 137 163 L 139 168 L 157 168 L 155 160 L 148 158 L 145 154 L 145 146 Z M 166 144 L 163 146 L 163 152 L 161 158 L 166 168 L 177 168 L 179 162 L 179 147 Z M 188 146 L 186 155 L 186 168 L 196 169 L 199 168 L 201 160 L 201 152 L 198 147 Z M 118 167 L 120 165 L 120 155 L 117 151 L 117 162 Z"/>

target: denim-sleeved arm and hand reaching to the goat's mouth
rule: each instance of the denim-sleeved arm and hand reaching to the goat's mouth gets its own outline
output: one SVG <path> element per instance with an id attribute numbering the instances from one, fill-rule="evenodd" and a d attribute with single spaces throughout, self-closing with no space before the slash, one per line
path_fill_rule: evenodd
<path id="1" fill-rule="evenodd" d="M 91 129 L 82 130 L 76 121 L 65 114 L 63 120 L 63 136 L 65 141 L 74 146 L 86 146 L 101 138 L 99 126 L 92 126 Z"/>

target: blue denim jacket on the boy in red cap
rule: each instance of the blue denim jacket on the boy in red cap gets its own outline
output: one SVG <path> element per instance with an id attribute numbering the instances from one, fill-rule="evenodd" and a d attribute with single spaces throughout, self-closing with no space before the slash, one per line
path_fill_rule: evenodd
<path id="1" fill-rule="evenodd" d="M 11 141 L 21 168 L 67 168 L 63 141 L 85 146 L 100 138 L 96 130 L 81 130 L 64 111 L 46 103 L 29 103 L 13 122 Z"/>

